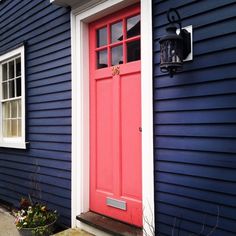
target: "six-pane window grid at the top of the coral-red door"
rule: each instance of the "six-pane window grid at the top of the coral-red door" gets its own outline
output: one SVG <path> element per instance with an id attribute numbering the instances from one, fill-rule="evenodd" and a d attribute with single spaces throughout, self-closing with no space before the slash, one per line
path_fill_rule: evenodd
<path id="1" fill-rule="evenodd" d="M 99 27 L 96 37 L 96 69 L 140 60 L 140 14 Z"/>

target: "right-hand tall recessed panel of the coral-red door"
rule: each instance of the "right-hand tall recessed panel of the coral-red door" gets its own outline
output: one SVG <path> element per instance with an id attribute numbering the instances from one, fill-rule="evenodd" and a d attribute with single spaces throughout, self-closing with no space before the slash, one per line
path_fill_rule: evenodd
<path id="1" fill-rule="evenodd" d="M 132 94 L 130 93 L 132 91 Z M 122 196 L 141 200 L 140 74 L 121 77 Z M 130 168 L 132 167 L 132 168 Z M 128 181 L 127 181 L 128 180 Z"/>

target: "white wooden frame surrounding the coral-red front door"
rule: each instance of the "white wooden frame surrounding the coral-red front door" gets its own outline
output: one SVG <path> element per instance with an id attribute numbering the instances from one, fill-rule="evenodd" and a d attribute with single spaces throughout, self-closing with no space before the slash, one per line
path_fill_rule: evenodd
<path id="1" fill-rule="evenodd" d="M 91 2 L 91 1 L 90 1 Z M 137 2 L 94 0 L 87 9 L 73 9 L 72 38 L 72 227 L 76 216 L 89 210 L 89 46 L 88 23 Z M 143 227 L 154 221 L 152 3 L 141 0 L 141 103 Z"/>

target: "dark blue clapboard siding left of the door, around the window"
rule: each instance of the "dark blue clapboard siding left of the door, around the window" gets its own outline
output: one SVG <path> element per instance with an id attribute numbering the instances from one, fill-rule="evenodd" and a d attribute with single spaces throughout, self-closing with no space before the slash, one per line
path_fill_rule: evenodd
<path id="1" fill-rule="evenodd" d="M 17 205 L 37 179 L 41 199 L 70 224 L 70 9 L 49 0 L 0 3 L 0 54 L 26 43 L 27 150 L 0 148 L 0 200 Z M 38 196 L 40 197 L 39 193 Z"/>

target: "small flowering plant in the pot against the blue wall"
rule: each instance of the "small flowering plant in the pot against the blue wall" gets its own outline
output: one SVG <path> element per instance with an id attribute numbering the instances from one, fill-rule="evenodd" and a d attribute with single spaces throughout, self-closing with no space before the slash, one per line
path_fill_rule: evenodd
<path id="1" fill-rule="evenodd" d="M 49 229 L 45 226 L 54 224 L 58 218 L 57 211 L 51 211 L 46 205 L 32 203 L 31 199 L 22 198 L 20 209 L 13 213 L 18 230 L 30 229 L 32 235 L 47 235 Z"/>

